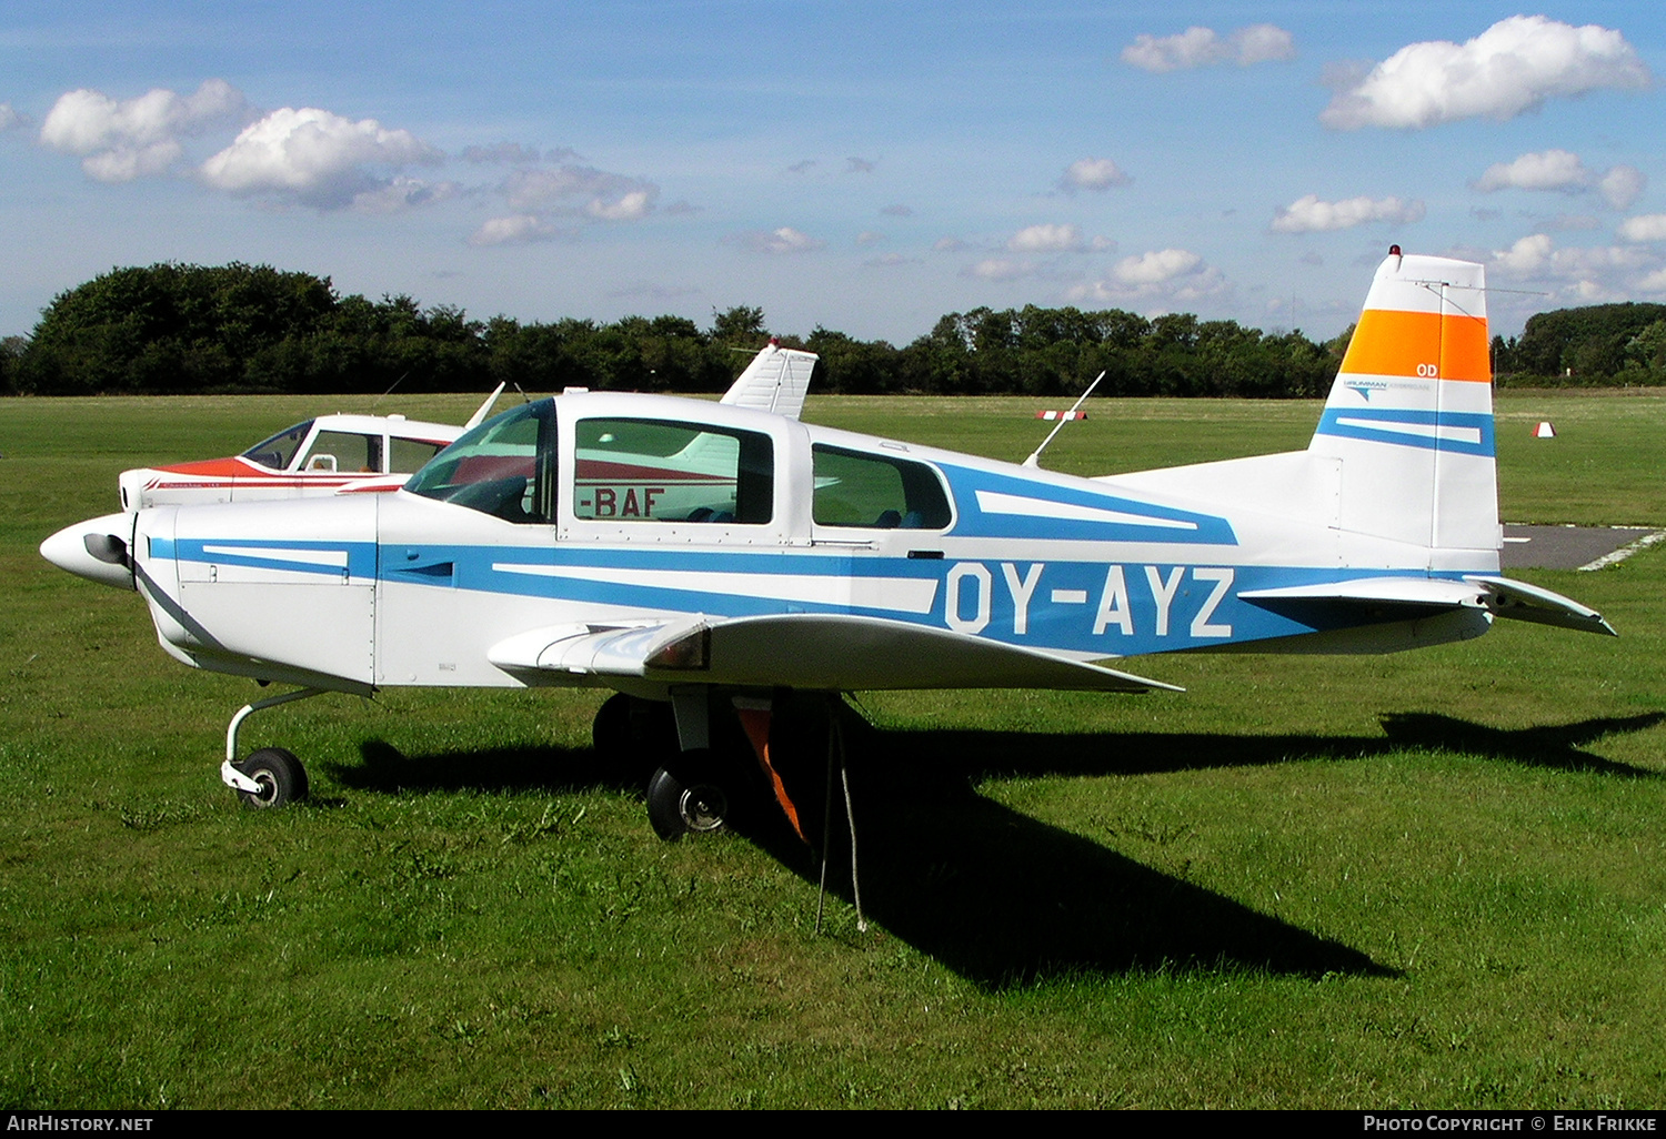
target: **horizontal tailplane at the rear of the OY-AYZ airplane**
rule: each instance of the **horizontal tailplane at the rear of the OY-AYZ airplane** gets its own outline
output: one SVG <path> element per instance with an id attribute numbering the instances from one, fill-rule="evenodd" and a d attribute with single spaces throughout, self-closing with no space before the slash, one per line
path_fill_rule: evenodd
<path id="1" fill-rule="evenodd" d="M 1379 611 L 1383 621 L 1403 621 L 1471 608 L 1516 621 L 1619 636 L 1596 609 L 1559 593 L 1509 578 L 1466 576 L 1461 581 L 1448 578 L 1358 578 L 1283 589 L 1251 589 L 1240 593 L 1238 598 L 1298 618 L 1303 613 L 1318 614 L 1326 608 L 1334 611 L 1336 606 L 1353 611 L 1356 621 L 1359 609 Z M 1324 624 L 1324 621 L 1316 621 L 1316 624 Z"/>

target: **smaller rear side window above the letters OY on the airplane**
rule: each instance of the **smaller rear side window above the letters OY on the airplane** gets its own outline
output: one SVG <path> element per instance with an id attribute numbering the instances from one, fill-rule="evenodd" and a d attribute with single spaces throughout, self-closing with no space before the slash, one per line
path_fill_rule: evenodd
<path id="1" fill-rule="evenodd" d="M 818 526 L 943 530 L 951 513 L 925 463 L 816 445 L 811 516 Z"/>

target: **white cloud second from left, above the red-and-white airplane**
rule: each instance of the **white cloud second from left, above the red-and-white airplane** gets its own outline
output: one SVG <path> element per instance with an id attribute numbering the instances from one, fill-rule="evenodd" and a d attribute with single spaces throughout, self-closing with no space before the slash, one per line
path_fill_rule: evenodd
<path id="1" fill-rule="evenodd" d="M 270 193 L 340 208 L 392 185 L 368 168 L 436 162 L 440 152 L 408 130 L 387 130 L 373 118 L 355 123 L 317 107 L 282 107 L 208 158 L 202 178 L 227 193 Z"/>

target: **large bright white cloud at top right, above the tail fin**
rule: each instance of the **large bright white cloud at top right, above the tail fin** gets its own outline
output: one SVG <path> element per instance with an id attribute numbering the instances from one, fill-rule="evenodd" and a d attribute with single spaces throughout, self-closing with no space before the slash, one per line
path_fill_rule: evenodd
<path id="1" fill-rule="evenodd" d="M 1516 15 L 1461 45 L 1428 40 L 1403 47 L 1338 92 L 1319 122 L 1358 130 L 1504 120 L 1558 95 L 1639 90 L 1649 82 L 1648 67 L 1619 32 Z"/>

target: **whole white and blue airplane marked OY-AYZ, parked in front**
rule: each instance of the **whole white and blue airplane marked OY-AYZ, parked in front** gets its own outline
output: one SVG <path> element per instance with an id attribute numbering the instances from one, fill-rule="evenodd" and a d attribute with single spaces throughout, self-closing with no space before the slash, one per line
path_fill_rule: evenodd
<path id="1" fill-rule="evenodd" d="M 227 729 L 222 778 L 248 803 L 307 791 L 288 751 L 238 759 L 252 711 L 595 686 L 620 693 L 598 746 L 660 709 L 648 808 L 666 838 L 725 824 L 715 716 L 738 716 L 773 776 L 781 689 L 1146 691 L 1173 686 L 1105 661 L 1391 653 L 1494 618 L 1613 634 L 1499 576 L 1479 265 L 1391 250 L 1288 455 L 1076 478 L 811 426 L 806 356 L 778 368 L 785 401 L 566 393 L 488 420 L 397 493 L 110 515 L 42 555 L 137 589 L 175 659 L 298 686 Z"/>

